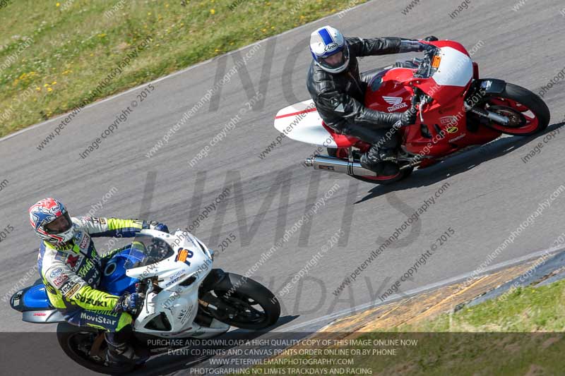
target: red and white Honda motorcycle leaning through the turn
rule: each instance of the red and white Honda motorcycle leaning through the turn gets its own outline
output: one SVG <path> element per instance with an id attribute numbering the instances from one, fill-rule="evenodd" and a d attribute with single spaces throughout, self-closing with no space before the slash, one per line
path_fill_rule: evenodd
<path id="1" fill-rule="evenodd" d="M 379 176 L 359 164 L 369 145 L 358 138 L 335 133 L 321 120 L 313 101 L 278 111 L 275 128 L 293 140 L 327 147 L 328 155 L 305 161 L 316 170 L 348 174 L 371 183 L 391 183 L 406 178 L 417 167 L 436 164 L 472 145 L 483 145 L 509 135 L 533 135 L 549 123 L 543 100 L 523 87 L 504 80 L 479 78 L 477 63 L 458 42 L 427 42 L 434 46 L 423 59 L 388 67 L 371 79 L 365 106 L 384 112 L 417 111 L 416 123 L 387 133 L 401 140 L 400 172 Z"/>

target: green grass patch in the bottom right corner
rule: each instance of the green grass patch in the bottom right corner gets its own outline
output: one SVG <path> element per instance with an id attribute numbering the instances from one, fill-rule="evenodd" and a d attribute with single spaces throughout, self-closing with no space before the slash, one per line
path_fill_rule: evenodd
<path id="1" fill-rule="evenodd" d="M 349 367 L 369 369 L 373 375 L 564 375 L 564 302 L 565 281 L 517 289 L 504 298 L 451 315 L 358 338 L 418 340 L 417 346 L 381 347 L 398 348 L 396 355 L 291 358 L 352 358 L 355 365 Z M 317 370 L 319 375 L 340 375 L 332 373 L 331 367 L 307 368 Z M 272 368 L 283 369 L 285 365 L 262 366 L 255 371 L 262 375 L 268 369 L 273 372 Z"/>

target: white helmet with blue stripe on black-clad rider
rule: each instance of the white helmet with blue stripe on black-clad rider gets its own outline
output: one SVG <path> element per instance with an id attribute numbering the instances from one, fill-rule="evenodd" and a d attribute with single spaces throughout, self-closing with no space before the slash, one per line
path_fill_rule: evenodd
<path id="1" fill-rule="evenodd" d="M 316 65 L 328 73 L 343 72 L 349 64 L 347 42 L 345 42 L 341 32 L 331 26 L 326 25 L 312 32 L 310 35 L 310 51 Z M 339 54 L 340 52 L 341 54 Z"/>

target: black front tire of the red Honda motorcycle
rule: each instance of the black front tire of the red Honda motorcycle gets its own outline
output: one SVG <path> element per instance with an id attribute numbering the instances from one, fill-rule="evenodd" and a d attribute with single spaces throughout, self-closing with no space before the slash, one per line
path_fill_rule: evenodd
<path id="1" fill-rule="evenodd" d="M 537 126 L 535 126 L 535 128 L 528 132 L 518 131 L 520 130 L 519 126 L 514 128 L 516 129 L 516 131 L 513 131 L 513 128 L 511 126 L 501 126 L 500 124 L 494 123 L 494 121 L 485 124 L 489 128 L 492 128 L 501 133 L 506 133 L 507 135 L 528 136 L 544 131 L 549 124 L 550 114 L 549 109 L 547 108 L 547 104 L 545 104 L 543 99 L 536 95 L 534 92 L 531 92 L 524 87 L 506 83 L 506 88 L 503 92 L 496 95 L 489 95 L 486 99 L 486 102 L 489 102 L 489 97 L 495 99 L 511 99 L 514 102 L 518 102 L 519 104 L 528 107 L 528 109 L 533 112 L 533 114 L 537 118 Z M 504 111 L 504 106 L 494 106 L 494 108 L 494 112 L 496 112 L 497 110 Z"/>

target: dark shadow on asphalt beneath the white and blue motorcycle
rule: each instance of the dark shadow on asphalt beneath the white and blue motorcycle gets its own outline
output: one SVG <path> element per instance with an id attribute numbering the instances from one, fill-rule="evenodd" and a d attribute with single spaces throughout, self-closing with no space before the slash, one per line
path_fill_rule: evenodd
<path id="1" fill-rule="evenodd" d="M 253 331 L 253 330 L 246 330 L 246 329 L 234 329 L 230 332 L 227 332 L 225 334 L 222 334 L 221 336 L 217 336 L 214 337 L 213 339 L 216 339 L 218 341 L 221 340 L 227 340 L 227 339 L 245 339 L 245 340 L 252 340 L 252 339 L 256 339 L 260 336 L 268 336 L 269 334 L 274 334 L 277 337 L 281 337 L 281 338 L 285 338 L 285 334 L 284 332 L 282 333 L 273 333 L 271 331 L 273 331 L 274 329 L 282 326 L 282 325 L 286 325 L 289 322 L 292 322 L 294 320 L 296 320 L 299 316 L 295 315 L 287 315 L 287 316 L 283 316 L 280 317 L 278 322 L 273 325 L 273 327 L 269 327 L 267 330 L 262 330 L 262 331 Z M 296 333 L 292 333 L 289 334 L 292 335 L 293 337 L 296 336 Z M 200 344 L 197 344 L 197 340 L 194 341 L 194 344 L 191 345 L 189 343 L 190 339 L 186 339 L 187 340 L 187 344 L 189 344 L 188 346 L 184 346 L 182 348 L 189 348 L 189 349 L 194 349 L 194 350 L 198 350 L 196 351 L 198 352 L 202 352 L 202 350 L 204 349 L 210 349 L 212 347 L 210 346 L 202 346 Z M 221 346 L 222 350 L 229 350 L 230 348 L 234 348 L 237 347 L 237 345 L 234 346 Z M 215 349 L 215 348 L 213 348 Z M 183 375 L 186 375 L 187 368 L 191 368 L 191 367 L 198 367 L 198 365 L 200 365 L 201 363 L 205 363 L 206 360 L 208 360 L 209 358 L 212 358 L 212 356 L 179 356 L 179 355 L 167 355 L 167 350 L 165 350 L 165 353 L 162 353 L 161 355 L 156 355 L 155 357 L 151 358 L 150 360 L 148 360 L 147 363 L 145 363 L 145 365 L 143 366 L 143 368 L 141 368 L 140 370 L 130 373 L 129 375 L 147 375 L 147 376 L 153 376 L 153 375 L 169 375 L 172 374 L 174 372 L 179 372 L 179 371 L 183 371 L 181 372 Z"/>

